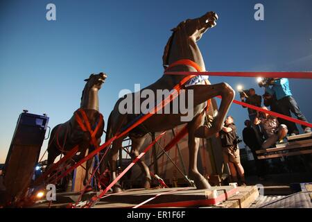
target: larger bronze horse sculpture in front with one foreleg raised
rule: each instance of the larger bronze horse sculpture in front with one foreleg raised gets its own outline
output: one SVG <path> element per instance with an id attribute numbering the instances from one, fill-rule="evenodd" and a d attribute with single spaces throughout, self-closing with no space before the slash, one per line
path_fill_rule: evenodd
<path id="1" fill-rule="evenodd" d="M 216 20 L 218 16 L 215 12 L 207 12 L 202 17 L 196 19 L 187 19 L 184 22 L 181 22 L 176 28 L 173 28 L 173 34 L 168 40 L 164 56 L 163 56 L 163 65 L 166 68 L 166 71 L 196 71 L 192 65 L 175 65 L 171 66 L 173 63 L 180 60 L 191 60 L 195 62 L 202 71 L 205 71 L 205 62 L 198 48 L 197 41 L 200 40 L 202 35 L 209 29 L 216 26 Z M 150 89 L 155 94 L 157 89 L 173 89 L 175 85 L 180 83 L 180 81 L 185 78 L 181 75 L 163 75 L 159 80 L 157 80 L 152 85 L 144 89 Z M 198 79 L 198 76 L 194 80 Z M 189 83 L 192 81 L 191 79 Z M 208 82 L 209 83 L 209 82 Z M 199 173 L 197 167 L 197 157 L 198 157 L 198 148 L 200 139 L 198 137 L 211 137 L 212 135 L 218 133 L 223 126 L 226 114 L 229 110 L 234 99 L 234 90 L 227 83 L 218 83 L 215 85 L 204 85 L 204 84 L 185 84 L 182 88 L 187 90 L 193 90 L 193 117 L 191 121 L 187 122 L 187 129 L 189 133 L 189 178 L 194 181 L 198 189 L 207 189 L 210 187 L 209 182 Z M 141 89 L 143 91 L 144 89 Z M 139 114 L 121 114 L 119 112 L 119 104 L 125 97 L 119 99 L 114 106 L 114 110 L 110 113 L 110 117 L 107 123 L 107 135 L 106 141 L 118 131 L 125 127 L 129 126 L 130 123 L 135 121 Z M 134 93 L 132 94 L 132 98 Z M 205 108 L 207 107 L 207 101 L 214 98 L 215 96 L 222 96 L 222 101 L 220 103 L 220 108 L 218 109 L 218 114 L 214 118 L 214 121 L 210 128 L 204 125 L 205 122 Z M 141 99 L 140 104 L 143 99 Z M 157 103 L 156 103 L 157 104 Z M 172 105 L 172 102 L 168 105 Z M 110 149 L 109 166 L 111 173 L 111 180 L 116 178 L 116 160 L 118 157 L 119 148 L 125 137 L 130 137 L 132 141 L 132 157 L 135 158 L 139 155 L 139 148 L 144 143 L 144 135 L 147 133 L 156 133 L 162 132 L 164 130 L 170 130 L 175 126 L 179 126 L 185 122 L 181 121 L 182 114 L 153 114 L 152 117 L 141 123 L 135 129 L 131 130 L 128 135 L 120 137 L 119 139 L 114 140 L 112 143 L 112 148 Z M 143 169 L 146 181 L 144 187 L 148 189 L 150 187 L 150 171 L 148 166 L 143 162 L 139 161 L 139 166 Z M 103 162 L 101 169 L 102 171 L 107 167 L 107 163 Z M 121 186 L 116 183 L 113 187 L 114 192 L 121 191 Z"/>

